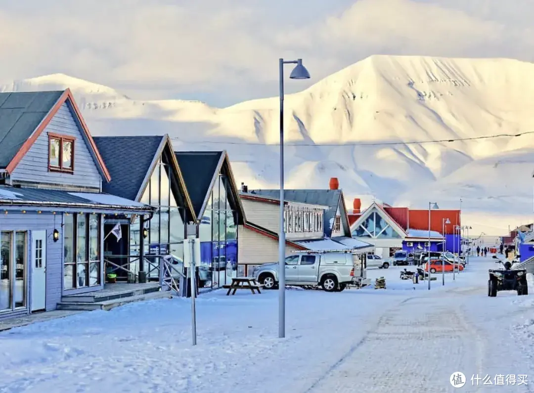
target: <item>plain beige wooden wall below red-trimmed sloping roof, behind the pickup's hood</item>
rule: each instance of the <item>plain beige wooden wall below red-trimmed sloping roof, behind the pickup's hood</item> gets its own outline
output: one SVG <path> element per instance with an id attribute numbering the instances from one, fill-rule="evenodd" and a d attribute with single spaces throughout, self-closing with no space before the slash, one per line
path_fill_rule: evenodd
<path id="1" fill-rule="evenodd" d="M 296 247 L 286 245 L 286 256 Z M 278 261 L 278 240 L 239 226 L 239 264 L 262 264 Z"/>

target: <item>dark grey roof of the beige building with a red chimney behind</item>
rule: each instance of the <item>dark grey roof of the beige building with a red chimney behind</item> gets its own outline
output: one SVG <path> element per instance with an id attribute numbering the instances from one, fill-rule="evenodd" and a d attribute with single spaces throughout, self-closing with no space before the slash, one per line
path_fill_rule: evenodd
<path id="1" fill-rule="evenodd" d="M 249 193 L 280 198 L 280 190 L 249 190 Z M 328 206 L 324 214 L 325 225 L 323 225 L 327 237 L 332 234 L 330 221 L 335 217 L 340 198 L 341 190 L 284 190 L 284 199 L 287 201 Z"/>

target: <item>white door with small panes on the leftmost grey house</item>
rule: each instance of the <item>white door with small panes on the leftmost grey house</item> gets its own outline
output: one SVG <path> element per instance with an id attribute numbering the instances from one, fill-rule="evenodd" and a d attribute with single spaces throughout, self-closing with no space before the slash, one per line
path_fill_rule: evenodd
<path id="1" fill-rule="evenodd" d="M 30 311 L 46 307 L 46 231 L 32 231 L 32 279 Z"/>

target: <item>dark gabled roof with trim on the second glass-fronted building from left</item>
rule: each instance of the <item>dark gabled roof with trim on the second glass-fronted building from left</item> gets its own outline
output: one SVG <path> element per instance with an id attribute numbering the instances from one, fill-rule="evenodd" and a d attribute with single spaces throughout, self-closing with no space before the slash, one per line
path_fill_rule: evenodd
<path id="1" fill-rule="evenodd" d="M 232 207 L 238 211 L 238 224 L 246 221 L 245 209 L 239 198 L 239 190 L 235 184 L 230 159 L 226 151 L 220 152 L 175 152 L 178 166 L 182 172 L 187 192 L 198 221 L 208 205 L 208 198 L 219 172 L 225 172 L 232 188 L 229 198 Z"/>

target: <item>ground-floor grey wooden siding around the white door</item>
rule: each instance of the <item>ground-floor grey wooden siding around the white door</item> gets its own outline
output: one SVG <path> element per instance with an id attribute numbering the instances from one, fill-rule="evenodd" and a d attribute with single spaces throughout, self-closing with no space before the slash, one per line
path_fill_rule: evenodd
<path id="1" fill-rule="evenodd" d="M 61 215 L 56 217 L 56 229 L 61 233 Z M 51 213 L 8 213 L 0 215 L 0 231 L 40 231 L 46 230 L 46 310 L 55 310 L 57 303 L 61 301 L 61 286 L 63 280 L 62 273 L 62 241 L 54 242 L 52 232 L 54 230 L 54 215 Z M 32 233 L 28 234 L 27 247 L 27 294 L 28 310 L 31 302 L 31 274 L 30 262 L 31 257 L 30 245 L 32 245 Z"/>

